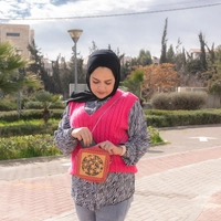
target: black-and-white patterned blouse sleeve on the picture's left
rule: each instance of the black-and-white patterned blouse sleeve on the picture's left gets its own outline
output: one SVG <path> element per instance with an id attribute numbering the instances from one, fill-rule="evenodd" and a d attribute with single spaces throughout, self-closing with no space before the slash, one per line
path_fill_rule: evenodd
<path id="1" fill-rule="evenodd" d="M 77 139 L 71 136 L 72 128 L 69 120 L 69 106 L 65 108 L 57 129 L 54 131 L 54 141 L 56 147 L 64 154 L 69 155 L 77 145 Z"/>

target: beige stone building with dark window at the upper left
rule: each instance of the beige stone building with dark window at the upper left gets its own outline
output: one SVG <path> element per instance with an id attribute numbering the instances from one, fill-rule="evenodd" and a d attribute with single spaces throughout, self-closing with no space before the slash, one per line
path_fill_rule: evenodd
<path id="1" fill-rule="evenodd" d="M 0 42 L 10 42 L 23 59 L 30 57 L 28 45 L 34 39 L 34 31 L 28 24 L 0 23 Z"/>

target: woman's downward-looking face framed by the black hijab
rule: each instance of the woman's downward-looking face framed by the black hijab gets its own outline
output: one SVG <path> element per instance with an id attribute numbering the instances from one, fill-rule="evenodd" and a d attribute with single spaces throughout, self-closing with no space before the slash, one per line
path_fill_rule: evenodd
<path id="1" fill-rule="evenodd" d="M 108 96 L 113 92 L 114 84 L 115 77 L 108 67 L 99 66 L 90 76 L 92 93 L 99 99 Z"/>

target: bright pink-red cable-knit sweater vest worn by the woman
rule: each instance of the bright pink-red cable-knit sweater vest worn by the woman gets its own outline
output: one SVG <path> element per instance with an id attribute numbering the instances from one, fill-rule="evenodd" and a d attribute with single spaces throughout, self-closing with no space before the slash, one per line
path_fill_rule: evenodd
<path id="1" fill-rule="evenodd" d="M 96 144 L 104 140 L 109 140 L 116 146 L 124 144 L 128 139 L 129 110 L 137 99 L 134 94 L 117 90 L 115 95 L 92 115 L 85 112 L 85 103 L 71 102 L 69 104 L 70 125 L 73 128 L 88 127 Z M 71 175 L 75 173 L 80 148 L 81 145 L 77 145 L 72 152 Z M 137 172 L 137 167 L 127 166 L 120 156 L 110 155 L 109 172 Z"/>

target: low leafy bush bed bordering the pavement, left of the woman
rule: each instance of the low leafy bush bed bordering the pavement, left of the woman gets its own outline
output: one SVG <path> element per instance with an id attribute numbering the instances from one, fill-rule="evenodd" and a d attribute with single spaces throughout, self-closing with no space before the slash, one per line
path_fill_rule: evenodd
<path id="1" fill-rule="evenodd" d="M 61 155 L 51 135 L 0 138 L 0 160 Z"/>

